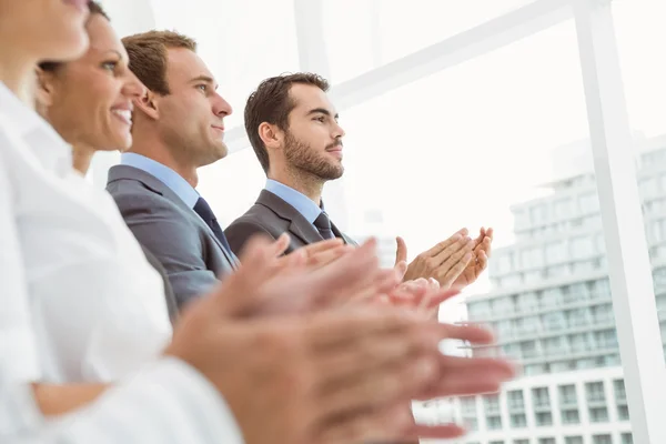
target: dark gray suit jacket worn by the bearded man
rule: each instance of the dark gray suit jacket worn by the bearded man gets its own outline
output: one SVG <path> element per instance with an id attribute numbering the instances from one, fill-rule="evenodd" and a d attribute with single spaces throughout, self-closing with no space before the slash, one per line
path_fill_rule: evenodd
<path id="1" fill-rule="evenodd" d="M 347 244 L 356 245 L 356 242 L 342 233 L 335 224 L 331 223 L 331 229 L 336 238 L 342 238 Z M 262 190 L 256 203 L 224 230 L 231 250 L 235 254 L 240 254 L 245 242 L 254 234 L 278 239 L 282 233 L 289 233 L 291 236 L 287 254 L 324 240 L 316 228 L 303 218 L 303 214 L 268 190 Z"/>

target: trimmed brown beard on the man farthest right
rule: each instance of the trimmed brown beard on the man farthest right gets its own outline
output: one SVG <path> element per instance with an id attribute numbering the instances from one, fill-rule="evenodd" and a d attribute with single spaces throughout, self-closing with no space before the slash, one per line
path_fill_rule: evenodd
<path id="1" fill-rule="evenodd" d="M 326 159 L 311 145 L 299 141 L 290 132 L 285 137 L 284 155 L 293 169 L 311 174 L 323 181 L 340 179 L 344 167 L 340 162 Z M 342 142 L 340 142 L 342 143 Z"/>

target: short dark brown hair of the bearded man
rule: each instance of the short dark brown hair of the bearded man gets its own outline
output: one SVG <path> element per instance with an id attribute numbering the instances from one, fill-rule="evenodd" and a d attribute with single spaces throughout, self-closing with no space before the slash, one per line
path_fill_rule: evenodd
<path id="1" fill-rule="evenodd" d="M 281 74 L 262 81 L 245 104 L 245 131 L 266 173 L 270 167 L 269 152 L 259 135 L 259 125 L 268 122 L 283 131 L 289 129 L 289 114 L 296 105 L 289 94 L 294 83 L 311 84 L 324 92 L 330 88 L 326 79 L 312 72 Z"/>

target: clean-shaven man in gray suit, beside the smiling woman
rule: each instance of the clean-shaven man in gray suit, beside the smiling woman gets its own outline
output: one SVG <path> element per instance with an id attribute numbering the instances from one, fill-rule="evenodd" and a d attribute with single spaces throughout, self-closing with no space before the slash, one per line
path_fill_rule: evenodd
<path id="1" fill-rule="evenodd" d="M 148 88 L 134 103 L 131 152 L 109 171 L 108 191 L 125 222 L 164 266 L 180 307 L 205 294 L 238 260 L 205 200 L 196 169 L 226 155 L 229 103 L 184 36 L 151 31 L 123 39 Z"/>

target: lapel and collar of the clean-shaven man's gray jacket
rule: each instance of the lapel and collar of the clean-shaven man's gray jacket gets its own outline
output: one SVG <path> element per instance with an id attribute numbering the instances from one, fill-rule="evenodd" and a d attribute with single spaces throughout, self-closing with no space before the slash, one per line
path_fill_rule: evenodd
<path id="1" fill-rule="evenodd" d="M 213 233 L 213 230 L 211 230 L 208 223 L 205 223 L 203 219 L 201 219 L 193 209 L 188 206 L 185 202 L 183 202 L 182 199 L 178 196 L 178 194 L 175 194 L 169 186 L 167 186 L 164 182 L 150 174 L 149 172 L 130 165 L 114 165 L 109 170 L 109 183 L 123 179 L 135 180 L 143 183 L 143 185 L 145 185 L 152 192 L 163 195 L 164 198 L 173 202 L 175 205 L 181 208 L 183 211 L 185 211 L 186 214 L 191 214 L 193 218 L 195 218 L 196 222 L 204 230 L 206 230 L 208 235 L 213 238 L 213 240 L 222 251 L 222 254 L 224 255 L 226 261 L 229 261 L 230 266 L 234 270 L 238 268 L 236 256 L 233 253 L 226 251 L 226 249 L 222 245 L 222 243 L 220 242 L 215 233 Z"/>

